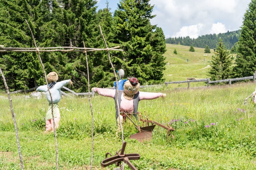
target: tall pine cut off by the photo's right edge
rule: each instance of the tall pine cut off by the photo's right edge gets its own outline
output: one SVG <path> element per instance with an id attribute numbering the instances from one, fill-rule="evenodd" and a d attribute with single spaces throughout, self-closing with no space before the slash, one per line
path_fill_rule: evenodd
<path id="1" fill-rule="evenodd" d="M 234 77 L 247 77 L 256 71 L 256 0 L 249 3 L 237 42 Z"/>

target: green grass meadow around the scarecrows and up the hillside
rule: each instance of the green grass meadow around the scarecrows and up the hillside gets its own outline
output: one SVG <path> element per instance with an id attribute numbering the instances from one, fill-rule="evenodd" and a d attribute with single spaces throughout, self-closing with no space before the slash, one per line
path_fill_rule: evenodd
<path id="1" fill-rule="evenodd" d="M 171 52 L 174 48 L 178 52 L 177 56 Z M 187 52 L 189 47 L 168 44 L 167 49 L 165 55 L 170 64 L 165 70 L 166 81 L 184 80 L 186 77 L 207 78 L 202 73 L 207 68 L 198 72 L 193 72 L 192 69 L 206 67 L 212 53 L 203 56 L 204 49 L 195 48 L 195 53 L 191 54 L 192 52 Z M 182 58 L 183 54 L 187 57 Z M 196 58 L 193 58 L 194 55 Z M 202 56 L 206 63 L 202 62 Z M 199 61 L 202 63 L 198 63 Z M 178 70 L 175 71 L 174 68 Z M 202 84 L 190 89 L 182 88 L 183 85 L 180 84 L 173 86 L 175 85 L 140 90 L 167 94 L 164 99 L 140 101 L 138 110 L 143 113 L 143 118 L 166 126 L 169 124 L 175 130 L 172 132 L 174 139 L 167 139 L 167 130 L 156 126 L 152 140 L 139 143 L 135 139 L 129 139 L 137 130 L 127 120 L 123 126 L 124 141 L 127 142 L 125 153 L 141 155 L 139 160 L 131 161 L 132 164 L 138 170 L 256 169 L 255 106 L 251 99 L 244 104 L 244 99 L 255 90 L 255 83 L 240 82 L 210 87 Z M 24 169 L 56 169 L 54 133 L 43 133 L 48 107 L 46 97 L 37 99 L 30 97 L 30 94 L 16 94 L 11 95 L 11 98 Z M 115 165 L 100 167 L 107 152 L 115 155 L 122 147 L 121 139 L 115 136 L 114 100 L 95 95 L 91 98 L 91 103 L 94 125 L 93 170 L 115 170 Z M 20 161 L 16 135 L 5 93 L 0 95 L 0 107 L 0 170 L 18 170 Z M 88 97 L 63 96 L 59 109 L 59 170 L 89 170 L 92 117 Z M 130 168 L 125 165 L 124 169 Z"/>

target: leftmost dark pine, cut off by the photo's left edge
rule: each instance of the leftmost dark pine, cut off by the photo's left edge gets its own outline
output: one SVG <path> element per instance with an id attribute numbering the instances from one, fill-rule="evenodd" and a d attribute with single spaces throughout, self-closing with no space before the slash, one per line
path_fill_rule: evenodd
<path id="1" fill-rule="evenodd" d="M 37 13 L 32 9 L 37 5 L 38 2 L 29 4 L 27 0 L 0 1 L 0 45 L 17 48 L 34 47 L 25 19 L 35 31 L 35 22 L 32 20 L 37 17 Z M 1 68 L 10 91 L 37 86 L 36 80 L 41 74 L 37 57 L 36 53 L 0 54 Z"/>

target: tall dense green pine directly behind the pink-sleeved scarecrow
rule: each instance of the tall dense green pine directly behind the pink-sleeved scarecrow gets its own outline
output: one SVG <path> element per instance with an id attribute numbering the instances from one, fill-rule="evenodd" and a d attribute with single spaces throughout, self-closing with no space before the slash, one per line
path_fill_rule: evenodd
<path id="1" fill-rule="evenodd" d="M 154 6 L 149 1 L 121 0 L 114 13 L 113 43 L 122 44 L 122 65 L 141 84 L 162 82 L 165 69 L 165 37 L 161 28 L 150 24 Z"/>

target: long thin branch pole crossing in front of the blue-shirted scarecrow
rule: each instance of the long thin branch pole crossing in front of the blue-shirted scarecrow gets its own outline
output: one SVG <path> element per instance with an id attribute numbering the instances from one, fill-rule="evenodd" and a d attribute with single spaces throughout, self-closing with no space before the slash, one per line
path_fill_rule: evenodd
<path id="1" fill-rule="evenodd" d="M 27 23 L 27 25 L 28 25 L 28 28 L 30 29 L 30 26 L 29 26 L 27 20 L 26 20 L 26 23 Z M 41 62 L 41 65 L 42 65 L 42 67 L 43 67 L 43 71 L 44 71 L 44 73 L 45 73 L 45 66 L 44 66 L 44 64 L 43 64 L 43 62 L 42 62 L 42 59 L 41 59 L 41 57 L 40 57 L 40 53 L 39 53 L 39 50 L 38 50 L 38 48 L 37 48 L 37 44 L 36 44 L 36 42 L 35 42 L 35 38 L 34 38 L 34 35 L 33 35 L 31 29 L 30 29 L 30 32 L 31 32 L 31 35 L 32 35 L 32 38 L 33 38 L 33 42 L 34 42 L 34 45 L 35 45 L 35 49 L 37 49 L 37 54 L 38 54 L 39 60 L 40 60 L 40 62 Z M 58 170 L 58 169 L 59 169 L 59 164 L 58 164 L 59 161 L 58 161 L 57 133 L 56 133 L 56 126 L 55 126 L 54 114 L 53 114 L 52 94 L 51 94 L 50 88 L 49 88 L 49 86 L 48 86 L 48 81 L 47 81 L 46 73 L 45 73 L 45 81 L 46 81 L 46 85 L 47 85 L 47 88 L 48 88 L 48 91 L 49 91 L 49 94 L 50 94 L 50 98 L 51 98 L 51 102 L 52 102 L 52 120 L 53 120 L 53 125 L 54 125 L 55 150 L 56 150 L 56 170 Z"/>

